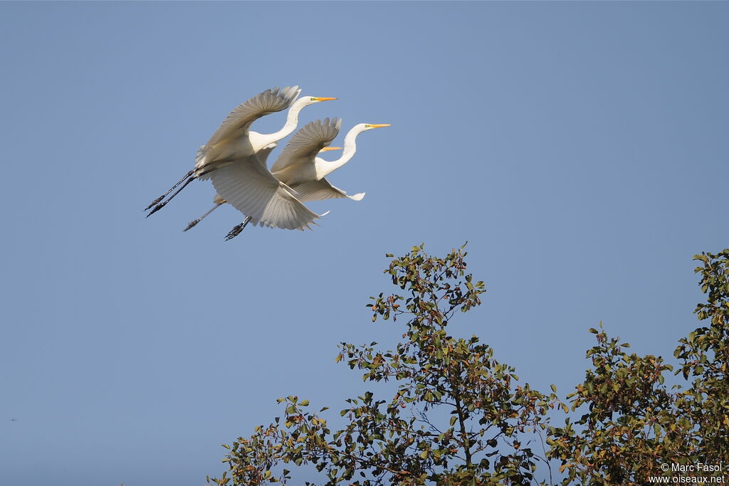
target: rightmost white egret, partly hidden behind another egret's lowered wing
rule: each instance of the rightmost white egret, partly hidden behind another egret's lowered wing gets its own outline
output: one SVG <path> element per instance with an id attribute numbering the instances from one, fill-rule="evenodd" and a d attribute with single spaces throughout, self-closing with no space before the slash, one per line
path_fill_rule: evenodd
<path id="1" fill-rule="evenodd" d="M 286 144 L 284 152 L 281 152 L 276 162 L 273 163 L 270 173 L 276 179 L 286 184 L 286 187 L 294 192 L 297 200 L 301 203 L 334 197 L 348 197 L 349 199 L 359 201 L 364 197 L 364 192 L 348 196 L 345 191 L 332 186 L 325 178 L 354 157 L 356 153 L 356 138 L 360 133 L 373 130 L 374 128 L 389 127 L 391 125 L 389 123 L 360 123 L 359 125 L 355 125 L 344 138 L 342 157 L 332 162 L 327 162 L 316 157 L 318 152 L 321 152 L 324 147 L 336 138 L 340 126 L 341 119 L 332 119 L 330 122 L 327 118 L 324 120 L 324 123 L 319 120 L 308 123 L 291 138 L 289 143 Z M 241 197 L 241 195 L 238 195 L 238 197 Z M 281 227 L 257 218 L 252 213 L 246 213 L 246 211 L 242 211 L 238 206 L 235 207 L 246 214 L 247 217 L 241 224 L 233 227 L 228 232 L 225 238 L 226 240 L 235 238 L 243 231 L 246 224 L 252 221 L 254 224 L 260 224 L 262 226 Z M 303 230 L 303 227 L 296 229 Z"/>

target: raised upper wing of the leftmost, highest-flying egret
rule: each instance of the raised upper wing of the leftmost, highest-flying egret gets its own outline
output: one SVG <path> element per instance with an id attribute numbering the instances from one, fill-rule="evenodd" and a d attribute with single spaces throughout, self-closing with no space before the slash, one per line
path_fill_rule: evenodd
<path id="1" fill-rule="evenodd" d="M 230 114 L 222 122 L 220 128 L 213 133 L 205 146 L 212 146 L 231 136 L 245 136 L 254 121 L 267 114 L 288 108 L 296 100 L 299 93 L 301 93 L 299 87 L 294 86 L 284 87 L 282 90 L 275 87 L 272 90 L 265 90 L 263 93 L 255 95 L 248 101 L 236 106 L 233 111 L 230 111 Z"/>

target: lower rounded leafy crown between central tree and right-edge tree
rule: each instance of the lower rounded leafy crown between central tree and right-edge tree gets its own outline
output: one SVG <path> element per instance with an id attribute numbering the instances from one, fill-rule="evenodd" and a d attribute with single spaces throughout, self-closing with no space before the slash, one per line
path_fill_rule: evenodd
<path id="1" fill-rule="evenodd" d="M 676 422 L 663 373 L 671 367 L 660 356 L 637 356 L 628 343 L 590 329 L 598 344 L 588 350 L 593 369 L 567 396 L 572 411 L 587 408 L 574 423 L 550 431 L 550 457 L 561 460 L 562 484 L 642 485 L 660 476 L 660 465 L 674 458 L 680 442 L 666 440 Z"/>

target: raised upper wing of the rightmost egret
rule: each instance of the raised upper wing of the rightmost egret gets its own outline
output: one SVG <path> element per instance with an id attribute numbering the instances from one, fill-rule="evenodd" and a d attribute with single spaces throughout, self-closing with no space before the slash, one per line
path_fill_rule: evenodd
<path id="1" fill-rule="evenodd" d="M 271 166 L 271 172 L 278 179 L 286 181 L 294 180 L 295 177 L 289 176 L 294 172 L 305 170 L 303 168 L 305 165 L 311 165 L 309 170 L 312 170 L 314 157 L 337 138 L 341 126 L 342 119 L 338 118 L 332 118 L 331 121 L 326 118 L 324 122 L 318 119 L 307 123 L 286 144 L 284 151 Z"/>

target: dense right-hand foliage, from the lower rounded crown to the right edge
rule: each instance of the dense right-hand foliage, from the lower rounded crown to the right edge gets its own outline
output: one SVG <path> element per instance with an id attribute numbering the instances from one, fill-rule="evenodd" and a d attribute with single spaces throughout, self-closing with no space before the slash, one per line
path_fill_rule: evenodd
<path id="1" fill-rule="evenodd" d="M 703 266 L 701 289 L 708 303 L 695 310 L 710 327 L 679 341 L 676 372 L 693 377 L 685 390 L 668 391 L 660 356 L 625 353 L 627 343 L 590 329 L 598 344 L 588 350 L 593 369 L 567 398 L 587 413 L 550 430 L 550 458 L 561 460 L 563 481 L 580 485 L 643 485 L 670 476 L 666 464 L 729 462 L 729 250 L 694 259 Z M 664 466 L 665 467 L 665 466 Z"/>

